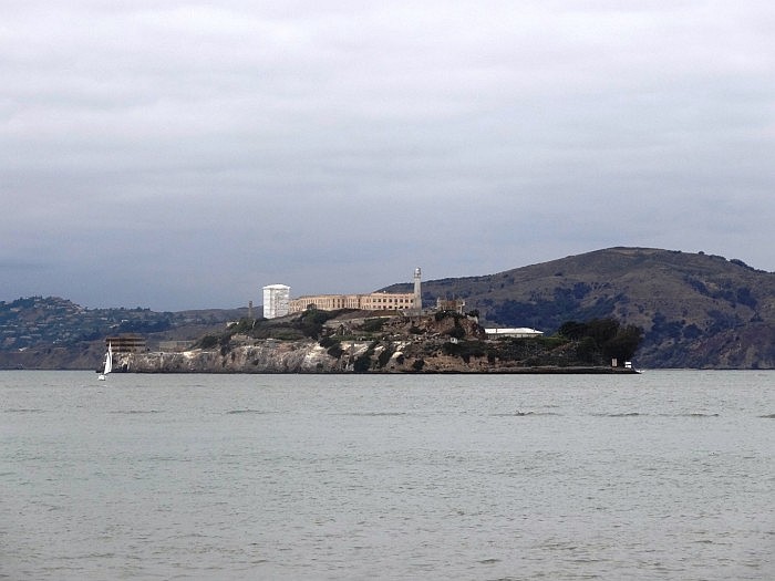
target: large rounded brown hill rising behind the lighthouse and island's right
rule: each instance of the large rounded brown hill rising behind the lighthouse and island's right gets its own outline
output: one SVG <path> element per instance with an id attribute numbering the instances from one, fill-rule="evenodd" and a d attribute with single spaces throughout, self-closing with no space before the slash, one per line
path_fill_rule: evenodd
<path id="1" fill-rule="evenodd" d="M 389 291 L 407 291 L 394 284 Z M 423 282 L 423 301 L 463 298 L 485 323 L 552 333 L 614 317 L 645 332 L 647 367 L 775 367 L 775 273 L 741 260 L 610 248 L 482 277 Z"/>

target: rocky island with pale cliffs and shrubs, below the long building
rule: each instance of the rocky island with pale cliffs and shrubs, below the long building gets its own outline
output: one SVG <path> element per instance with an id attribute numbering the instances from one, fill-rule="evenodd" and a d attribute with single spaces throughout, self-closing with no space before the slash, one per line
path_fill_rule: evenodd
<path id="1" fill-rule="evenodd" d="M 569 321 L 551 335 L 488 333 L 478 313 L 310 308 L 240 319 L 176 351 L 116 353 L 130 373 L 637 373 L 642 331 L 613 319 Z"/>

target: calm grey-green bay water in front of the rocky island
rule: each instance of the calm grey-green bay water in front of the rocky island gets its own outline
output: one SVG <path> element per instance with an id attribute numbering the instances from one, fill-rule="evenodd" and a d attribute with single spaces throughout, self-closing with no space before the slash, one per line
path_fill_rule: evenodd
<path id="1" fill-rule="evenodd" d="M 775 579 L 775 372 L 0 372 L 0 579 Z"/>

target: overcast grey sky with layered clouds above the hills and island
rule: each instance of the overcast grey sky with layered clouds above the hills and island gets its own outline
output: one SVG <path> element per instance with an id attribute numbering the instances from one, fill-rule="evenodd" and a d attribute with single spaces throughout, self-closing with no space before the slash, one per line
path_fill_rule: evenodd
<path id="1" fill-rule="evenodd" d="M 0 0 L 0 300 L 775 270 L 775 3 Z"/>

